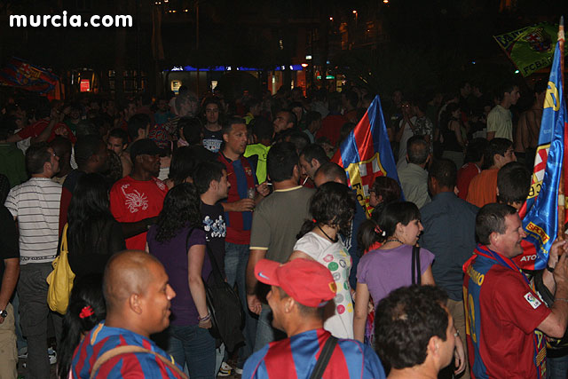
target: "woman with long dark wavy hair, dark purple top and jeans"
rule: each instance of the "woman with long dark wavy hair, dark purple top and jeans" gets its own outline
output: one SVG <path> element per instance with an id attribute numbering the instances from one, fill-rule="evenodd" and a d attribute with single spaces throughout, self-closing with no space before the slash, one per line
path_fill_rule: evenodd
<path id="1" fill-rule="evenodd" d="M 170 277 L 177 296 L 171 300 L 167 351 L 180 366 L 187 364 L 192 379 L 215 377 L 215 339 L 209 334 L 203 278 L 211 272 L 205 254 L 200 197 L 193 184 L 170 189 L 163 209 L 148 231 L 147 250 L 157 257 Z"/>

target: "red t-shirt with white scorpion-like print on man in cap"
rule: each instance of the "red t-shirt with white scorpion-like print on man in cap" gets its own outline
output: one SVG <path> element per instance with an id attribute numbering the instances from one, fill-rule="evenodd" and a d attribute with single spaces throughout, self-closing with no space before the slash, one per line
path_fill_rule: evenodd
<path id="1" fill-rule="evenodd" d="M 162 180 L 141 181 L 125 177 L 110 190 L 110 211 L 119 223 L 133 223 L 147 217 L 156 217 L 163 207 L 168 187 Z M 146 233 L 126 240 L 126 249 L 146 249 Z"/>

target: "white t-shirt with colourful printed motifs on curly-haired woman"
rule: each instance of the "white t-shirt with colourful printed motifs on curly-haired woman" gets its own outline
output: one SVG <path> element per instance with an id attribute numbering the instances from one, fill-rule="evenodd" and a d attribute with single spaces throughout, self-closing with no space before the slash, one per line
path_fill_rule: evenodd
<path id="1" fill-rule="evenodd" d="M 302 251 L 321 265 L 325 265 L 334 277 L 335 315 L 328 318 L 323 328 L 337 338 L 353 338 L 353 299 L 349 274 L 351 256 L 342 241 L 332 243 L 316 233 L 307 233 L 296 242 L 294 250 Z"/>

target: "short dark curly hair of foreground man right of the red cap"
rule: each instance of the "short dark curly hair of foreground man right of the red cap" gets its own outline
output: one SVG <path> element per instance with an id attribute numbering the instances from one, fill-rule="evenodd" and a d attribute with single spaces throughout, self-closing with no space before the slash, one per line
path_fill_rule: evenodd
<path id="1" fill-rule="evenodd" d="M 375 312 L 375 343 L 383 364 L 397 369 L 421 365 L 431 337 L 446 341 L 446 300 L 442 289 L 419 285 L 395 289 L 381 300 Z"/>

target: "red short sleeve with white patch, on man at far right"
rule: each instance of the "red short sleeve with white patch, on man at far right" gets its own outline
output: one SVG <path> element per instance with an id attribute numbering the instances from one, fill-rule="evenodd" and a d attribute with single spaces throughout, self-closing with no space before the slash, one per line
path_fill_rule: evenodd
<path id="1" fill-rule="evenodd" d="M 550 310 L 517 272 L 498 272 L 492 281 L 494 317 L 513 322 L 526 334 L 548 317 Z"/>

